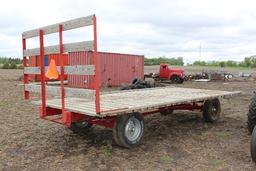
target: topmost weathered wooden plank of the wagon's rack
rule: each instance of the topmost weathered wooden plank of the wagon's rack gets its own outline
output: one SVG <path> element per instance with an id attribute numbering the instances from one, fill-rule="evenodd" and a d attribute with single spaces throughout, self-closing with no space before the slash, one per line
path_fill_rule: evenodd
<path id="1" fill-rule="evenodd" d="M 90 26 L 90 25 L 93 25 L 93 17 L 94 17 L 94 15 L 76 18 L 73 20 L 69 20 L 69 21 L 65 21 L 65 22 L 52 24 L 49 26 L 25 31 L 22 33 L 22 38 L 27 39 L 27 38 L 39 36 L 39 30 L 43 30 L 44 35 L 51 34 L 51 33 L 57 33 L 59 31 L 60 24 L 62 24 L 63 31 L 80 28 L 80 27 L 85 27 L 85 26 Z"/>

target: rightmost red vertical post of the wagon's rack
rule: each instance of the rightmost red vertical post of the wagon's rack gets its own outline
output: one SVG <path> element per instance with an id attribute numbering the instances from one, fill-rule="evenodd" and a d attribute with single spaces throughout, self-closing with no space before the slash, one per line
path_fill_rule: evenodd
<path id="1" fill-rule="evenodd" d="M 100 114 L 100 83 L 99 83 L 99 56 L 97 49 L 97 25 L 96 16 L 93 16 L 93 37 L 94 37 L 94 63 L 95 63 L 95 78 L 94 78 L 94 89 L 95 89 L 95 106 L 96 113 Z"/>

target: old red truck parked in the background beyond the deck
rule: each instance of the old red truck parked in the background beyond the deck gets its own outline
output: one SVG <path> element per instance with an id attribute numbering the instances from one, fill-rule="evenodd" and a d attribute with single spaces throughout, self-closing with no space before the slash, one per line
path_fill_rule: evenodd
<path id="1" fill-rule="evenodd" d="M 159 73 L 149 73 L 145 78 L 153 78 L 155 81 L 171 80 L 174 83 L 182 84 L 184 81 L 184 70 L 170 68 L 168 64 L 160 64 Z"/>

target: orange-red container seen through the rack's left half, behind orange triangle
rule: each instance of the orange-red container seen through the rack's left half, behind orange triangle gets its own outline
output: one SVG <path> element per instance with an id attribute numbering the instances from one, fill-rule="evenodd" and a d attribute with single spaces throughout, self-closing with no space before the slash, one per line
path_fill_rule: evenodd
<path id="1" fill-rule="evenodd" d="M 63 61 L 64 65 L 68 65 L 68 54 L 63 54 L 62 58 L 64 60 Z M 54 59 L 56 65 L 60 66 L 61 59 L 60 59 L 59 54 L 45 55 L 44 56 L 44 66 L 48 66 L 50 64 L 51 59 Z M 40 66 L 40 65 L 41 65 L 41 61 L 40 61 L 39 56 L 30 56 L 29 57 L 29 66 L 35 67 L 35 66 Z M 67 80 L 67 76 L 65 76 L 64 79 Z M 41 75 L 30 75 L 29 80 L 30 81 L 41 81 Z M 49 80 L 49 79 L 46 78 L 46 80 Z M 58 80 L 60 80 L 60 77 L 54 81 L 58 81 Z"/>

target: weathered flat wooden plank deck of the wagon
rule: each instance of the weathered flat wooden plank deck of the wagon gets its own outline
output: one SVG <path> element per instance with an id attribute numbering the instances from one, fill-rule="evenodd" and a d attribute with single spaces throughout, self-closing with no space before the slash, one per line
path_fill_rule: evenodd
<path id="1" fill-rule="evenodd" d="M 191 88 L 151 88 L 142 90 L 114 91 L 100 95 L 101 115 L 112 116 L 128 112 L 152 110 L 168 105 L 203 101 L 216 97 L 229 97 L 240 92 Z M 40 104 L 40 101 L 34 103 Z M 48 107 L 61 109 L 59 98 L 46 101 Z M 89 116 L 99 116 L 95 112 L 95 102 L 83 98 L 65 98 L 67 111 L 77 112 Z"/>

